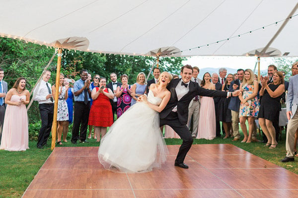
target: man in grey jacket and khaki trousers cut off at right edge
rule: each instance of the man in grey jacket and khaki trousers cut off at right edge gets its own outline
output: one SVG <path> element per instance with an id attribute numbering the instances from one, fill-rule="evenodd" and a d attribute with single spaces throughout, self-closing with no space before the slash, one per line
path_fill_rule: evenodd
<path id="1" fill-rule="evenodd" d="M 296 85 L 296 86 L 294 86 Z M 294 161 L 295 133 L 298 128 L 298 75 L 290 77 L 287 95 L 287 117 L 289 120 L 287 128 L 286 149 L 287 156 L 281 162 Z"/>

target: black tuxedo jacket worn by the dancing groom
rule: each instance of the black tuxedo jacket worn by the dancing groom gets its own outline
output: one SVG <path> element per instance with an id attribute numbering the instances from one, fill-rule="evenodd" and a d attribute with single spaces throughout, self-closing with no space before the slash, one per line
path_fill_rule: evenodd
<path id="1" fill-rule="evenodd" d="M 196 96 L 207 96 L 207 97 L 226 97 L 227 92 L 208 90 L 199 86 L 198 83 L 189 82 L 189 92 L 184 95 L 179 101 L 177 99 L 175 88 L 181 79 L 173 79 L 167 89 L 171 92 L 171 98 L 165 108 L 159 113 L 160 119 L 164 119 L 172 109 L 177 105 L 178 119 L 182 125 L 187 124 L 188 119 L 188 105 L 189 102 Z"/>

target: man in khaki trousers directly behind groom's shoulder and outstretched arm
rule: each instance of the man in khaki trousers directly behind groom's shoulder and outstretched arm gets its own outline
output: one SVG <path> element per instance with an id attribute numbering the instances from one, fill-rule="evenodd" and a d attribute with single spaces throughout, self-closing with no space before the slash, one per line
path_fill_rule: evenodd
<path id="1" fill-rule="evenodd" d="M 198 75 L 200 73 L 199 67 L 193 67 L 193 76 L 191 81 L 198 83 L 199 86 L 201 85 L 202 80 L 199 79 Z M 187 125 L 189 130 L 191 131 L 191 136 L 196 138 L 198 133 L 198 126 L 199 126 L 199 117 L 200 117 L 200 96 L 195 96 L 189 103 L 188 106 L 188 121 Z M 192 123 L 192 126 L 191 126 Z"/>

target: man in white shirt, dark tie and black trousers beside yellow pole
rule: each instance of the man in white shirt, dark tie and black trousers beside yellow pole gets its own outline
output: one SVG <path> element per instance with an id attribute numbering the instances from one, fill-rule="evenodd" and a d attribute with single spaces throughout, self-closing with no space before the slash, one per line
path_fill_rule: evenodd
<path id="1" fill-rule="evenodd" d="M 51 72 L 49 70 L 44 71 L 39 87 L 34 90 L 34 92 L 36 92 L 34 100 L 39 103 L 41 117 L 41 128 L 39 130 L 37 148 L 43 148 L 43 146 L 47 145 L 53 124 L 54 99 L 51 84 L 49 83 L 50 78 Z"/>

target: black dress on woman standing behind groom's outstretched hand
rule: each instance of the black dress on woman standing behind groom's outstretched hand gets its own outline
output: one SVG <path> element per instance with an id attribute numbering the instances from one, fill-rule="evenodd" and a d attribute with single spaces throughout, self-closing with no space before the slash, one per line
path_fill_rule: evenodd
<path id="1" fill-rule="evenodd" d="M 229 88 L 229 85 L 224 85 L 224 91 L 227 92 Z M 231 100 L 231 98 L 221 98 L 219 100 L 219 120 L 222 122 L 232 122 L 232 115 L 231 110 L 228 109 L 228 103 Z"/>

